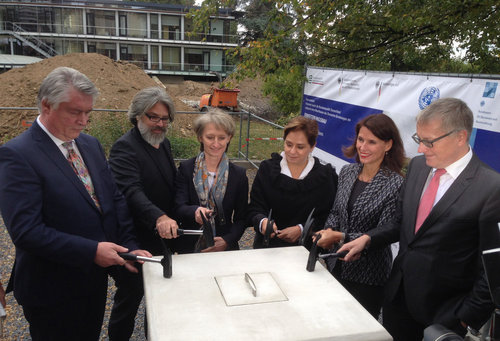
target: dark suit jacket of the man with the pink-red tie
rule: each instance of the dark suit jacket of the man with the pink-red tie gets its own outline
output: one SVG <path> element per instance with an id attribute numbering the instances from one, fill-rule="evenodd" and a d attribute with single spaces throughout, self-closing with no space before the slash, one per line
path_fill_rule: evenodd
<path id="1" fill-rule="evenodd" d="M 498 230 L 500 175 L 474 155 L 415 234 L 420 195 L 429 172 L 423 156 L 411 161 L 398 217 L 393 224 L 367 233 L 372 238 L 370 248 L 399 239 L 387 295 L 393 299 L 404 285 L 415 320 L 448 328 L 462 320 L 479 329 L 493 308 L 480 251 L 491 246 L 483 238 Z"/>

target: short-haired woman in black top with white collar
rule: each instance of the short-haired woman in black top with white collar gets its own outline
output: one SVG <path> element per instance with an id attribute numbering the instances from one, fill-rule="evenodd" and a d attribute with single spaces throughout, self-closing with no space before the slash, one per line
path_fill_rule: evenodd
<path id="1" fill-rule="evenodd" d="M 272 247 L 297 245 L 312 209 L 312 230 L 323 227 L 337 191 L 337 174 L 312 156 L 318 124 L 303 116 L 284 131 L 284 151 L 261 163 L 250 192 L 249 220 L 254 226 L 254 247 L 262 246 L 267 217 L 272 209 Z"/>

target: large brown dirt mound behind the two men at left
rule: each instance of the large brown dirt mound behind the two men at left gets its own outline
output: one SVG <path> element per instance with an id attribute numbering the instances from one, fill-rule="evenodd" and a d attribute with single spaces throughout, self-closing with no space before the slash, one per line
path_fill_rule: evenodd
<path id="1" fill-rule="evenodd" d="M 95 108 L 127 109 L 133 96 L 141 89 L 158 85 L 139 67 L 96 54 L 73 53 L 44 59 L 23 68 L 0 74 L 0 106 L 35 107 L 42 80 L 55 68 L 68 66 L 85 74 L 99 89 Z M 177 110 L 192 110 L 173 97 Z M 22 121 L 33 121 L 36 111 L 0 111 L 0 141 L 18 135 L 25 127 Z"/>

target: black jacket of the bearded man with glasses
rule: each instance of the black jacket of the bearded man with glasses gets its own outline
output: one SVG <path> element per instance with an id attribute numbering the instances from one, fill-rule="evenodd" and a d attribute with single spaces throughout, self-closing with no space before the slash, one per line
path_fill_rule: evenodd
<path id="1" fill-rule="evenodd" d="M 155 156 L 158 153 L 165 157 L 165 164 L 159 163 Z M 164 214 L 175 219 L 176 169 L 170 142 L 165 139 L 156 150 L 134 127 L 115 142 L 109 164 L 118 188 L 127 199 L 141 247 L 162 254 L 160 237 L 155 232 L 156 220 Z"/>

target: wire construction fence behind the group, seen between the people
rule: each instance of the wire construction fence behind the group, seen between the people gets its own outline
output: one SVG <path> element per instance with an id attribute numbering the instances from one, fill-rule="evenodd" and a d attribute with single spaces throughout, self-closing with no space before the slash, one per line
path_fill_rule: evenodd
<path id="1" fill-rule="evenodd" d="M 94 109 L 85 132 L 96 137 L 109 153 L 113 143 L 131 128 L 126 112 L 124 109 Z M 0 136 L 1 144 L 27 129 L 36 119 L 38 108 L 0 107 L 0 114 L 4 118 L 9 117 L 0 121 L 1 131 L 8 132 Z M 283 150 L 282 126 L 245 110 L 228 114 L 234 117 L 236 124 L 235 136 L 228 150 L 232 160 L 246 160 L 257 168 L 258 161 Z M 192 127 L 198 115 L 203 114 L 199 111 L 178 111 L 174 122 L 169 124 L 167 137 L 176 160 L 194 157 L 199 152 L 200 144 Z"/>

